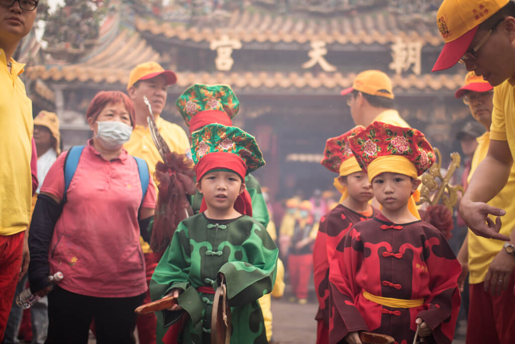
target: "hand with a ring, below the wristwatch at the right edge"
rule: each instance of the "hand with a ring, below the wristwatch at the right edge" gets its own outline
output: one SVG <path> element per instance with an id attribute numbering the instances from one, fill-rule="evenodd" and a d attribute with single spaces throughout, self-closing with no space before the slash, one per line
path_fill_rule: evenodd
<path id="1" fill-rule="evenodd" d="M 485 291 L 499 295 L 508 288 L 511 273 L 515 269 L 515 257 L 503 248 L 493 258 L 485 277 Z"/>

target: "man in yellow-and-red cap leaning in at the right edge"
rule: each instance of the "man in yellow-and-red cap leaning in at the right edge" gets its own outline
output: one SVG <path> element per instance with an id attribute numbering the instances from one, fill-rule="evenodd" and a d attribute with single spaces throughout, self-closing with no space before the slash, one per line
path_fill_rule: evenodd
<path id="1" fill-rule="evenodd" d="M 499 270 L 504 285 L 515 268 L 515 232 L 497 233 L 488 215 L 504 216 L 506 209 L 492 207 L 491 200 L 505 186 L 515 158 L 515 3 L 510 0 L 444 0 L 436 23 L 445 41 L 433 71 L 458 62 L 482 76 L 494 89 L 488 153 L 476 168 L 459 210 L 471 231 L 506 241 L 510 265 Z M 507 257 L 508 257 L 507 256 Z"/>

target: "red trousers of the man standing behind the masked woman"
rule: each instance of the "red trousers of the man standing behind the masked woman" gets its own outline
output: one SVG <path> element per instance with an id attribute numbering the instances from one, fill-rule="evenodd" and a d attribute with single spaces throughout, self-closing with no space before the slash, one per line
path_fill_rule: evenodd
<path id="1" fill-rule="evenodd" d="M 161 259 L 161 255 L 159 253 L 150 252 L 145 253 L 145 267 L 147 273 L 147 286 L 150 285 L 150 280 L 152 279 L 152 274 L 156 269 L 159 260 Z M 143 303 L 151 302 L 150 300 L 150 289 L 145 293 L 145 299 Z M 157 318 L 155 313 L 149 313 L 144 315 L 139 315 L 138 320 L 136 322 L 136 326 L 138 327 L 138 337 L 140 339 L 141 344 L 156 344 L 156 327 L 157 327 Z"/>

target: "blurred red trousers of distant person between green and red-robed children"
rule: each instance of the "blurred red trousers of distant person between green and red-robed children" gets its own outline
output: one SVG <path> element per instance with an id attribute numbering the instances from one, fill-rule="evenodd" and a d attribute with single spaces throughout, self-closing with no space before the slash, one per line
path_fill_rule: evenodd
<path id="1" fill-rule="evenodd" d="M 289 282 L 297 299 L 307 299 L 307 285 L 313 272 L 313 253 L 289 254 Z"/>

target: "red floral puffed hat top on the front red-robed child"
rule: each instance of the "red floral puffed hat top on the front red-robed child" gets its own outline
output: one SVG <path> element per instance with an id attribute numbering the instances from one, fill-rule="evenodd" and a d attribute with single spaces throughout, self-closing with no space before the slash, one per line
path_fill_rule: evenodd
<path id="1" fill-rule="evenodd" d="M 350 137 L 351 150 L 366 171 L 370 162 L 381 156 L 400 155 L 413 162 L 418 175 L 435 162 L 433 147 L 423 133 L 382 122 L 373 122 L 362 132 Z"/>

